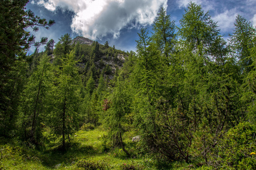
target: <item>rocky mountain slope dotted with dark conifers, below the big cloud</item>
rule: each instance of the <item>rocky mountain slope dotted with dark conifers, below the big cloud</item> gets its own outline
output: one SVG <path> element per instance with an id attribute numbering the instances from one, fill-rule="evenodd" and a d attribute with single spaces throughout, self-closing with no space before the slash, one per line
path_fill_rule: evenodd
<path id="1" fill-rule="evenodd" d="M 105 79 L 113 79 L 116 70 L 123 67 L 125 58 L 128 57 L 127 53 L 115 49 L 114 46 L 102 45 L 86 37 L 75 37 L 71 44 L 76 57 L 80 60 L 81 74 L 87 76 L 85 81 L 91 73 L 93 73 L 96 83 L 101 74 Z"/>

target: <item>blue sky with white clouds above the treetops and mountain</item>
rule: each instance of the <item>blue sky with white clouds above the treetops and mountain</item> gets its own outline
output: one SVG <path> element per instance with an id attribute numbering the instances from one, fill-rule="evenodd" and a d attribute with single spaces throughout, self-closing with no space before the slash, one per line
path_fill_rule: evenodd
<path id="1" fill-rule="evenodd" d="M 204 12 L 209 11 L 213 21 L 219 25 L 224 39 L 233 32 L 236 16 L 239 14 L 256 26 L 255 0 L 194 0 L 201 5 Z M 48 37 L 58 42 L 61 35 L 69 33 L 73 38 L 87 37 L 100 44 L 108 41 L 110 46 L 125 52 L 136 50 L 137 32 L 148 28 L 151 31 L 152 23 L 160 7 L 166 8 L 171 20 L 179 27 L 190 0 L 30 0 L 26 8 L 35 15 L 47 20 L 55 20 L 50 29 L 40 28 L 32 32 L 36 41 L 41 37 Z M 32 54 L 32 48 L 28 53 Z M 44 50 L 41 46 L 39 51 Z"/>

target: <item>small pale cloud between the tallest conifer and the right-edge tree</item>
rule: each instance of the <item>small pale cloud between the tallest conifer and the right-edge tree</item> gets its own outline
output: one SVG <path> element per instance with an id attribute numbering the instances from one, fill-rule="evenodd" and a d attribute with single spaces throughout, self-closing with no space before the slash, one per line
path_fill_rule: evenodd
<path id="1" fill-rule="evenodd" d="M 212 17 L 215 22 L 220 26 L 221 31 L 228 32 L 233 29 L 234 22 L 236 20 L 236 9 L 226 10 L 221 14 L 217 14 Z"/>

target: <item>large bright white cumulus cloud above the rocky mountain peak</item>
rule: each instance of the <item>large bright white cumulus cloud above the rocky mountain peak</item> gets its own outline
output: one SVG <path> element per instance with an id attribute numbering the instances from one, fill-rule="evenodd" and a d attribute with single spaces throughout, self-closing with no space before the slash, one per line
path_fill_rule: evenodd
<path id="1" fill-rule="evenodd" d="M 90 39 L 112 34 L 119 37 L 123 28 L 152 24 L 167 0 L 39 0 L 49 11 L 57 7 L 74 12 L 72 31 Z"/>

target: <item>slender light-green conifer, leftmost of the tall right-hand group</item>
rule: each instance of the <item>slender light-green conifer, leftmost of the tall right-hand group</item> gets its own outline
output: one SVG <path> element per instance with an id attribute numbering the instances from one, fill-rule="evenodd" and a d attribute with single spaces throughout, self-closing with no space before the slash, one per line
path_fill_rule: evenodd
<path id="1" fill-rule="evenodd" d="M 158 128 L 156 123 L 156 101 L 160 93 L 161 58 L 159 51 L 151 45 L 151 38 L 146 29 L 138 33 L 137 60 L 132 73 L 134 109 L 136 124 L 140 134 L 150 148 L 157 148 Z"/>

